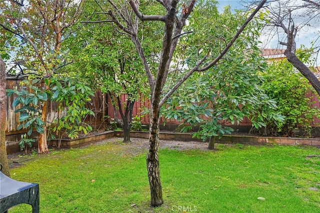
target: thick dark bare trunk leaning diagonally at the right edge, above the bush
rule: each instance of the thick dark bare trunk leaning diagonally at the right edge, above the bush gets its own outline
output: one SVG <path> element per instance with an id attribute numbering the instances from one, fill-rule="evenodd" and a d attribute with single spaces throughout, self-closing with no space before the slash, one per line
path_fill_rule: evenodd
<path id="1" fill-rule="evenodd" d="M 284 55 L 287 60 L 310 82 L 315 91 L 320 95 L 320 81 L 309 70 L 309 68 L 305 66 L 289 49 L 284 51 Z"/>

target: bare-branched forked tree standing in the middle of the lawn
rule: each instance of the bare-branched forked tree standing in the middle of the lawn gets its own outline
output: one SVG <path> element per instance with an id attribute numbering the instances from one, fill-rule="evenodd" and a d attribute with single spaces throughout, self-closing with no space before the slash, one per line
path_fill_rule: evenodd
<path id="1" fill-rule="evenodd" d="M 107 13 L 112 21 L 112 23 L 121 30 L 123 33 L 127 34 L 132 43 L 134 44 L 136 51 L 139 55 L 141 63 L 143 65 L 145 75 L 148 79 L 148 84 L 150 88 L 150 125 L 149 125 L 149 150 L 146 158 L 150 195 L 151 195 L 151 206 L 160 206 L 163 203 L 162 189 L 160 182 L 159 173 L 159 116 L 160 107 L 165 103 L 166 99 L 170 97 L 174 91 L 194 72 L 204 72 L 212 68 L 216 63 L 225 55 L 228 49 L 232 46 L 236 38 L 242 32 L 247 23 L 253 18 L 253 16 L 258 12 L 258 10 L 265 3 L 262 0 L 256 9 L 248 15 L 244 23 L 238 28 L 238 31 L 232 37 L 231 40 L 226 41 L 221 47 L 219 53 L 211 54 L 211 48 L 205 45 L 200 49 L 196 49 L 199 53 L 196 58 L 196 62 L 193 67 L 190 67 L 188 71 L 177 77 L 177 81 L 174 85 L 167 91 L 163 90 L 165 81 L 167 80 L 169 68 L 172 62 L 173 54 L 176 50 L 178 41 L 184 34 L 190 33 L 183 31 L 183 27 L 186 25 L 186 20 L 190 16 L 191 12 L 195 9 L 201 9 L 201 7 L 196 7 L 195 0 L 189 0 L 188 2 L 182 3 L 179 0 L 159 0 L 157 7 L 152 7 L 154 4 L 149 3 L 146 7 L 152 7 L 152 11 L 148 11 L 144 6 L 140 5 L 139 1 L 129 0 L 128 4 L 121 4 L 117 2 L 109 1 L 109 6 L 111 9 L 108 11 L 101 11 Z M 209 5 L 214 4 L 211 1 L 203 1 Z M 201 4 L 200 4 L 201 5 Z M 110 8 L 106 7 L 106 8 Z M 100 7 L 102 8 L 102 7 Z M 102 8 L 103 9 L 103 8 Z M 150 13 L 154 12 L 155 15 L 144 15 L 142 12 Z M 206 13 L 208 14 L 208 13 Z M 102 22 L 103 20 L 101 20 Z M 105 20 L 107 21 L 107 20 Z M 151 69 L 149 66 L 147 56 L 145 55 L 143 48 L 143 37 L 139 30 L 139 24 L 141 21 L 158 21 L 163 25 L 163 37 L 162 37 L 162 47 L 161 51 L 157 53 L 158 66 L 156 69 Z M 204 34 L 205 35 L 209 35 Z M 193 46 L 190 46 L 192 48 Z"/>

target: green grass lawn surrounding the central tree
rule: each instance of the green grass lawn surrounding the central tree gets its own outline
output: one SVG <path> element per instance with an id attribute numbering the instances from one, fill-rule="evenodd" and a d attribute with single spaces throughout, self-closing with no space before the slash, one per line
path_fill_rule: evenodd
<path id="1" fill-rule="evenodd" d="M 164 204 L 154 209 L 149 207 L 145 153 L 132 156 L 127 145 L 111 143 L 54 151 L 12 169 L 11 178 L 40 185 L 42 213 L 320 210 L 320 159 L 305 158 L 320 155 L 316 148 L 219 145 L 215 152 L 160 150 Z M 30 210 L 20 205 L 10 213 Z"/>

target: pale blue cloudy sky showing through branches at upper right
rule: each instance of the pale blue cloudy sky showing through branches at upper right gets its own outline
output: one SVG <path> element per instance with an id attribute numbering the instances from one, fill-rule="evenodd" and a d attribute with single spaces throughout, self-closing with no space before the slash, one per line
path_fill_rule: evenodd
<path id="1" fill-rule="evenodd" d="M 241 9 L 244 8 L 245 3 L 250 3 L 252 0 L 217 0 L 218 1 L 218 10 L 222 11 L 223 7 L 226 5 L 231 5 L 231 9 L 237 8 Z M 267 2 L 268 3 L 268 2 Z M 277 2 L 270 2 L 273 4 L 277 4 Z M 290 0 L 289 4 L 298 5 L 301 4 L 301 0 Z M 297 14 L 298 17 L 294 19 L 295 24 L 301 23 L 303 21 L 303 9 L 299 10 L 300 14 Z M 285 46 L 279 45 L 280 41 L 285 41 L 286 37 L 285 34 L 282 33 L 283 30 L 279 30 L 279 33 L 276 31 L 264 31 L 263 34 L 260 36 L 260 40 L 262 41 L 261 48 L 277 48 L 277 49 L 284 49 Z M 270 35 L 271 34 L 271 35 Z M 300 47 L 303 44 L 305 47 L 311 47 L 311 41 L 316 41 L 318 36 L 320 35 L 320 22 L 311 23 L 310 26 L 304 26 L 301 28 L 296 36 L 296 47 Z M 318 41 L 318 45 L 320 45 L 320 41 Z M 317 58 L 317 66 L 320 66 L 320 55 Z"/>

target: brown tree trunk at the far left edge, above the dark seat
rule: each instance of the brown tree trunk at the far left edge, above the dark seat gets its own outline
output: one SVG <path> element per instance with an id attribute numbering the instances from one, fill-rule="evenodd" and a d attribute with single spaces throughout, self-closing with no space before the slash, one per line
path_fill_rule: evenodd
<path id="1" fill-rule="evenodd" d="M 2 173 L 10 177 L 9 164 L 5 147 L 5 117 L 6 117 L 6 93 L 5 93 L 5 65 L 0 56 L 0 164 Z"/>

